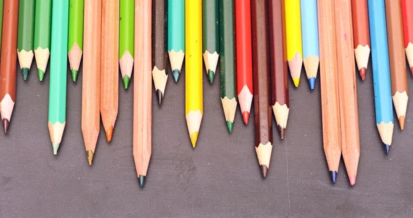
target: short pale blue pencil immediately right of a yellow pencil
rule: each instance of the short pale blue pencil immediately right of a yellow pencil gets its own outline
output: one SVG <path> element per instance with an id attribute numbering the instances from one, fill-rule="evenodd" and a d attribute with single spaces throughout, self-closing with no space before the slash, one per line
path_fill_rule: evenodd
<path id="1" fill-rule="evenodd" d="M 301 32 L 304 68 L 310 89 L 314 89 L 319 66 L 317 0 L 301 0 Z"/>

